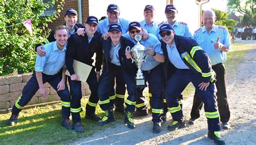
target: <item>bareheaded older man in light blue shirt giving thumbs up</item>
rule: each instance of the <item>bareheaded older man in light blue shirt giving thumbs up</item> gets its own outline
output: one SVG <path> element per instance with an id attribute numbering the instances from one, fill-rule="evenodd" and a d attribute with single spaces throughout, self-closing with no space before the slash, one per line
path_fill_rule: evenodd
<path id="1" fill-rule="evenodd" d="M 216 87 L 218 92 L 216 95 L 220 121 L 222 122 L 223 129 L 229 129 L 230 109 L 226 95 L 226 70 L 224 62 L 226 61 L 226 52 L 231 50 L 230 35 L 225 27 L 214 25 L 215 20 L 214 11 L 206 10 L 202 18 L 204 26 L 194 33 L 193 39 L 197 41 L 198 45 L 210 57 L 212 69 L 215 71 L 217 79 Z M 203 103 L 201 103 L 197 93 L 195 93 L 190 124 L 194 124 L 194 120 L 200 117 L 199 111 L 202 106 Z"/>

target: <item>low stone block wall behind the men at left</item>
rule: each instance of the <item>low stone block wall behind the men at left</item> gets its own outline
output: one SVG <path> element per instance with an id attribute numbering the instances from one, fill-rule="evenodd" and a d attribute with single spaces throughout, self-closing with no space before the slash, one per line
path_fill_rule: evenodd
<path id="1" fill-rule="evenodd" d="M 21 96 L 22 90 L 31 76 L 32 73 L 0 76 L 0 110 L 8 111 L 8 108 L 11 108 L 15 104 L 16 99 Z M 33 96 L 27 105 L 43 103 L 47 104 L 60 100 L 57 92 L 51 87 L 49 83 L 45 83 L 44 87 L 46 89 L 47 97 L 42 97 L 39 91 L 37 91 L 35 96 Z M 82 83 L 82 93 L 83 96 L 91 94 L 87 83 Z"/>

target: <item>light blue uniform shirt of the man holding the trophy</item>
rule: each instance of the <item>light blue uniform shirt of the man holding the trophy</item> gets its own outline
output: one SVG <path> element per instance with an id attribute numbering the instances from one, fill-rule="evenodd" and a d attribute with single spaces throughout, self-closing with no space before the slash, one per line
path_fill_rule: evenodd
<path id="1" fill-rule="evenodd" d="M 137 44 L 137 42 L 130 37 L 129 33 L 124 34 L 124 37 L 131 40 L 133 44 Z M 147 46 L 151 44 L 153 50 L 156 53 L 163 54 L 163 50 L 161 49 L 161 43 L 153 34 L 149 34 L 149 38 L 147 40 L 141 40 L 140 44 L 143 45 L 146 49 Z M 142 67 L 140 69 L 144 71 L 151 70 L 158 64 L 160 64 L 160 62 L 157 62 L 153 56 L 147 56 L 146 62 L 143 62 Z"/>

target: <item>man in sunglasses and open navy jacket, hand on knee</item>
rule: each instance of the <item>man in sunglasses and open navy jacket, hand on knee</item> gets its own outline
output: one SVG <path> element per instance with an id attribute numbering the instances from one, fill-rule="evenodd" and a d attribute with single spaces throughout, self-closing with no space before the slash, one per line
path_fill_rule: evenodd
<path id="1" fill-rule="evenodd" d="M 225 144 L 220 137 L 219 113 L 216 102 L 215 73 L 211 67 L 211 61 L 207 53 L 193 39 L 176 35 L 169 24 L 160 26 L 161 48 L 163 49 L 165 62 L 164 74 L 167 79 L 164 94 L 168 109 L 171 112 L 173 123 L 168 126 L 170 131 L 186 126 L 183 111 L 179 105 L 178 96 L 192 82 L 196 91 L 205 103 L 205 116 L 208 124 L 208 137 L 217 144 Z M 174 73 L 167 78 L 170 71 L 167 67 L 173 67 Z"/>

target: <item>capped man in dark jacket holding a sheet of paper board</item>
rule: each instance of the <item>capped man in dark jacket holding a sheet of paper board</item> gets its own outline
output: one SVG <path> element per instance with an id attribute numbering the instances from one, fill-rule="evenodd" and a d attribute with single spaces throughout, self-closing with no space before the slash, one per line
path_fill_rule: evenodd
<path id="1" fill-rule="evenodd" d="M 94 16 L 89 16 L 85 22 L 85 37 L 79 36 L 77 33 L 72 34 L 69 38 L 68 48 L 66 52 L 66 67 L 69 70 L 71 77 L 68 77 L 71 92 L 71 107 L 70 112 L 72 114 L 72 120 L 74 124 L 74 130 L 76 132 L 84 132 L 81 125 L 80 111 L 82 98 L 81 82 L 79 77 L 75 74 L 73 69 L 73 60 L 83 62 L 89 66 L 92 66 L 93 55 L 96 53 L 95 67 L 92 66 L 92 70 L 87 78 L 86 82 L 91 90 L 90 98 L 86 104 L 85 118 L 91 120 L 100 120 L 95 114 L 95 107 L 98 103 L 98 80 L 99 72 L 102 66 L 103 51 L 100 44 L 100 38 L 102 35 L 96 32 L 98 27 L 98 19 Z"/>

